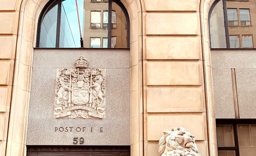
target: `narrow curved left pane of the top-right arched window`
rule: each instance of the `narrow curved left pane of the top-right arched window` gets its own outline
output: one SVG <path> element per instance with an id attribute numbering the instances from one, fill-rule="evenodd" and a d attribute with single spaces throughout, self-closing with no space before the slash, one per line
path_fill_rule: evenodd
<path id="1" fill-rule="evenodd" d="M 227 48 L 222 0 L 215 5 L 210 14 L 210 46 Z"/>

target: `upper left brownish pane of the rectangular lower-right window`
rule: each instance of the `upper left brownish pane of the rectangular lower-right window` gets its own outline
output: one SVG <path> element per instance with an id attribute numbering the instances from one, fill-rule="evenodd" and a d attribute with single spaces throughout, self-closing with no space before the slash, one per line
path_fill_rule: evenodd
<path id="1" fill-rule="evenodd" d="M 217 125 L 217 142 L 219 146 L 234 146 L 234 130 L 232 125 Z"/>

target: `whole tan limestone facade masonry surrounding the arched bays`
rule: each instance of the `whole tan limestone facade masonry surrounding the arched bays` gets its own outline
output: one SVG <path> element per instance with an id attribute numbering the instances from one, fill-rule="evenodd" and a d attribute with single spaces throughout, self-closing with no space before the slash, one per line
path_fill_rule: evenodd
<path id="1" fill-rule="evenodd" d="M 26 156 L 32 63 L 48 0 L 0 0 L 0 156 Z M 184 127 L 217 156 L 208 12 L 214 0 L 121 0 L 130 17 L 130 149 Z"/>

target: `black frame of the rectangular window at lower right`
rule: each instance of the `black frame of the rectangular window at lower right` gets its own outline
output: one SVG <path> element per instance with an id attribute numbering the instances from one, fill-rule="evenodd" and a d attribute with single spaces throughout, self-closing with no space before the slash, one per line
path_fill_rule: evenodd
<path id="1" fill-rule="evenodd" d="M 216 119 L 216 134 L 217 125 L 232 125 L 234 131 L 234 146 L 218 146 L 218 151 L 235 151 L 236 156 L 240 156 L 237 125 L 241 124 L 256 124 L 256 119 Z"/>

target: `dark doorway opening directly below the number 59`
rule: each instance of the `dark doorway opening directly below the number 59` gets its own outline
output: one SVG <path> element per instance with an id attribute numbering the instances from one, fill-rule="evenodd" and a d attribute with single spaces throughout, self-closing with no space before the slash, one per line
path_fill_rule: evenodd
<path id="1" fill-rule="evenodd" d="M 27 156 L 130 156 L 130 146 L 27 146 Z"/>

